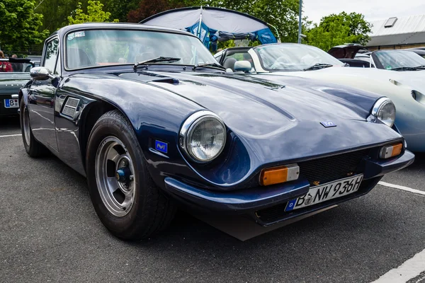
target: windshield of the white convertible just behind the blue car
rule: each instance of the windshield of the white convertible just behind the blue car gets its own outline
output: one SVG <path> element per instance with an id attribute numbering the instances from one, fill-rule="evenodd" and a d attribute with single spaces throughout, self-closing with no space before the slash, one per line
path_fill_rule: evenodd
<path id="1" fill-rule="evenodd" d="M 327 52 L 310 45 L 263 45 L 254 50 L 261 59 L 263 69 L 268 71 L 300 71 L 315 64 L 344 66 L 344 63 Z"/>

